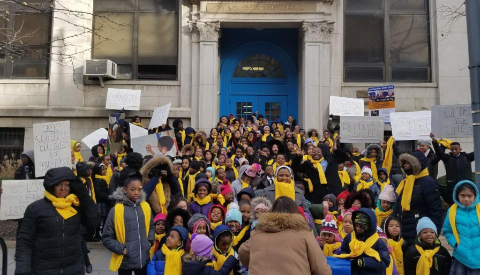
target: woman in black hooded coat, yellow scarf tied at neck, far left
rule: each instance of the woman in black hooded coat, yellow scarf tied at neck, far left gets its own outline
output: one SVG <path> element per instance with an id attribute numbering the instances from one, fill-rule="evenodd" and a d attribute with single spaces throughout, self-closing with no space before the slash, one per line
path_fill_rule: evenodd
<path id="1" fill-rule="evenodd" d="M 79 232 L 81 225 L 99 224 L 96 205 L 67 167 L 49 169 L 43 186 L 45 197 L 28 205 L 23 215 L 15 274 L 84 274 Z"/>

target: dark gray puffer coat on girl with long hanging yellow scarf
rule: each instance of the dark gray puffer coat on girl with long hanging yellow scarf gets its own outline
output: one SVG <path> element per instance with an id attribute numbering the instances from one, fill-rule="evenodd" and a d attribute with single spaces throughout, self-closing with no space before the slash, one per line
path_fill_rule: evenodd
<path id="1" fill-rule="evenodd" d="M 150 229 L 148 236 L 145 230 L 145 219 L 140 202 L 145 200 L 145 194 L 142 192 L 136 202 L 132 202 L 123 194 L 123 189 L 118 187 L 109 197 L 116 203 L 123 203 L 125 221 L 125 240 L 126 244 L 116 240 L 114 212 L 115 208 L 111 208 L 103 226 L 101 241 L 103 245 L 113 253 L 121 254 L 123 248 L 126 247 L 126 255 L 120 264 L 120 269 L 139 269 L 146 266 L 150 261 L 149 250 L 154 243 L 155 228 L 153 225 L 153 216 L 150 212 Z"/>

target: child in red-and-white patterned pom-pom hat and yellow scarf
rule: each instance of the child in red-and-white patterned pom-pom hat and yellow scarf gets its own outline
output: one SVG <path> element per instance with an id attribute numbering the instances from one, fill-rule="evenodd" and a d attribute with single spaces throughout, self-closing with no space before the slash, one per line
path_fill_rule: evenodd
<path id="1" fill-rule="evenodd" d="M 321 231 L 320 235 L 316 237 L 316 241 L 325 256 L 331 257 L 334 254 L 340 254 L 341 238 L 332 215 L 327 214 L 321 221 Z"/>

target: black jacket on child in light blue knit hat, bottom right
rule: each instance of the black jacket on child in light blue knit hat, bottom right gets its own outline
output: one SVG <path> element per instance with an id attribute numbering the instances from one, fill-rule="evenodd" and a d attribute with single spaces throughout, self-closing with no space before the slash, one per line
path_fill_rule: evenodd
<path id="1" fill-rule="evenodd" d="M 403 254 L 403 262 L 405 263 L 405 274 L 415 274 L 416 264 L 420 258 L 420 252 L 416 250 L 415 244 L 419 245 L 423 250 L 430 250 L 440 246 L 438 252 L 433 255 L 433 262 L 430 267 L 430 275 L 448 275 L 450 273 L 451 256 L 445 247 L 441 246 L 440 241 L 431 245 L 422 243 L 415 238 L 414 244 L 410 245 Z"/>

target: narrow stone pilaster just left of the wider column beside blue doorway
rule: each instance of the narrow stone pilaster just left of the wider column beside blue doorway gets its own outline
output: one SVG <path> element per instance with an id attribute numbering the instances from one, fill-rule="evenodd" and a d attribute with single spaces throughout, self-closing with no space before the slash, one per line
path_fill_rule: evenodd
<path id="1" fill-rule="evenodd" d="M 188 21 L 191 31 L 191 126 L 198 128 L 198 98 L 199 98 L 199 66 L 200 66 L 200 33 L 196 21 Z"/>

